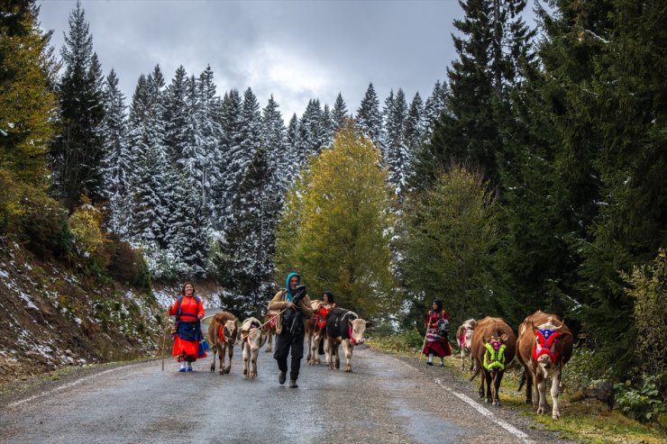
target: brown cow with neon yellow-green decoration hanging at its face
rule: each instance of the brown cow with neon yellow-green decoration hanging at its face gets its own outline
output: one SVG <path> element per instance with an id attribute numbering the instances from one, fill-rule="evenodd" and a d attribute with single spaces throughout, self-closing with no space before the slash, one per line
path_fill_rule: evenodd
<path id="1" fill-rule="evenodd" d="M 500 405 L 500 382 L 505 368 L 514 359 L 515 351 L 516 336 L 507 322 L 489 316 L 477 322 L 471 343 L 471 355 L 475 358 L 477 369 L 471 380 L 481 371 L 480 398 L 486 395 L 487 403 Z"/>

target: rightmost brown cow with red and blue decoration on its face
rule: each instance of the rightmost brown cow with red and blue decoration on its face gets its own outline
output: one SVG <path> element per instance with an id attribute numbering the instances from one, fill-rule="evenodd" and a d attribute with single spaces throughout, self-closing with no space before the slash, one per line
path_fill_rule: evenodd
<path id="1" fill-rule="evenodd" d="M 562 366 L 572 357 L 573 343 L 572 332 L 555 314 L 538 310 L 519 325 L 516 358 L 525 369 L 525 402 L 532 402 L 537 413 L 546 413 L 549 408 L 546 403 L 546 379 L 551 376 L 554 420 L 561 417 L 558 386 L 561 384 Z"/>

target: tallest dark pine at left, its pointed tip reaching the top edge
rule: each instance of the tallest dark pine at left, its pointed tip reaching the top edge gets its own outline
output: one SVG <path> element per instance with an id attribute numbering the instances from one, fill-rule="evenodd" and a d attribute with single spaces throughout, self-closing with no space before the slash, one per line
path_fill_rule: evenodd
<path id="1" fill-rule="evenodd" d="M 56 192 L 70 209 L 81 195 L 105 200 L 101 124 L 104 118 L 102 69 L 81 3 L 69 14 L 69 32 L 60 51 L 65 71 L 56 86 L 59 131 L 51 150 Z"/>

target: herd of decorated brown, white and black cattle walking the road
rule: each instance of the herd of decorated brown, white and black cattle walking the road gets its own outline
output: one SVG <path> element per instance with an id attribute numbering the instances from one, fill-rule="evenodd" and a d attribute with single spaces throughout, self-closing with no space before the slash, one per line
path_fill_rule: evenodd
<path id="1" fill-rule="evenodd" d="M 312 303 L 314 315 L 305 321 L 306 362 L 309 366 L 320 364 L 320 351 L 324 349 L 326 365 L 340 367 L 339 346 L 343 346 L 345 371 L 352 371 L 352 350 L 364 342 L 366 322 L 356 313 L 332 307 L 324 301 Z M 232 313 L 216 313 L 208 327 L 208 339 L 213 349 L 211 371 L 215 371 L 215 356 L 220 360 L 219 373 L 230 372 L 233 346 L 241 343 L 243 375 L 248 379 L 257 376 L 257 357 L 260 348 L 271 351 L 272 337 L 276 335 L 276 316 L 270 312 L 260 322 L 249 318 L 239 322 Z M 480 375 L 480 398 L 487 403 L 500 405 L 498 391 L 507 365 L 515 357 L 524 367 L 525 402 L 533 403 L 538 413 L 547 412 L 546 381 L 552 378 L 552 417 L 558 419 L 558 393 L 562 366 L 572 356 L 573 338 L 562 319 L 553 313 L 537 311 L 519 325 L 518 337 L 507 322 L 500 318 L 486 317 L 480 321 L 470 319 L 456 331 L 456 341 L 461 348 L 461 370 L 465 367 L 466 353 L 470 353 L 471 380 Z M 225 356 L 228 358 L 225 363 Z M 519 387 L 520 389 L 521 387 Z"/>

